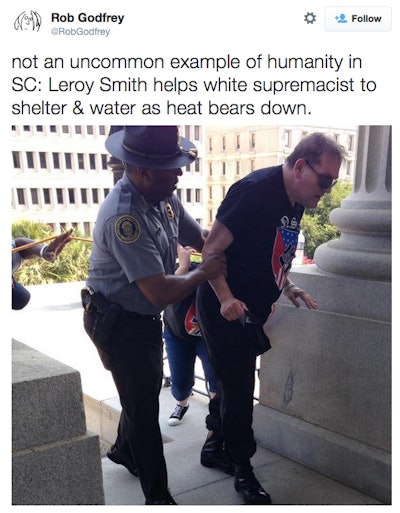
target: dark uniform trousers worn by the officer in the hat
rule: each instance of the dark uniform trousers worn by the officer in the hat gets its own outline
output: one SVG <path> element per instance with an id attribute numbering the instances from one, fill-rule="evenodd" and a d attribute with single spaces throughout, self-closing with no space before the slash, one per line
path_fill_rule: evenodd
<path id="1" fill-rule="evenodd" d="M 84 313 L 89 333 L 95 315 Z M 158 423 L 163 375 L 161 321 L 122 312 L 107 352 L 98 350 L 112 373 L 122 406 L 117 450 L 125 460 L 135 462 L 147 500 L 166 498 L 167 469 Z"/>

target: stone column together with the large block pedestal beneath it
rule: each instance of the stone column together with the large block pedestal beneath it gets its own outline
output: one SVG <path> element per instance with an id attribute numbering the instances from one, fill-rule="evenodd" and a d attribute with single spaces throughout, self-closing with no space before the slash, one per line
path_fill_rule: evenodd
<path id="1" fill-rule="evenodd" d="M 318 301 L 282 295 L 265 325 L 259 445 L 391 503 L 391 128 L 359 128 L 354 190 L 337 240 L 291 270 Z"/>

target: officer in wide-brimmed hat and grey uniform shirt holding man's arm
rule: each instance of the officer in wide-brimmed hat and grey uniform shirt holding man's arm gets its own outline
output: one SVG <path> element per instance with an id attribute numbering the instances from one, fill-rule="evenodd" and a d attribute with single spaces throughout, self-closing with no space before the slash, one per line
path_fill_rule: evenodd
<path id="1" fill-rule="evenodd" d="M 201 227 L 174 195 L 182 166 L 197 157 L 176 126 L 125 126 L 106 140 L 124 175 L 101 205 L 94 230 L 84 326 L 112 373 L 122 412 L 108 453 L 138 475 L 146 504 L 176 504 L 168 489 L 158 424 L 162 383 L 160 313 L 225 274 L 223 253 L 174 275 L 180 243 L 201 251 Z"/>

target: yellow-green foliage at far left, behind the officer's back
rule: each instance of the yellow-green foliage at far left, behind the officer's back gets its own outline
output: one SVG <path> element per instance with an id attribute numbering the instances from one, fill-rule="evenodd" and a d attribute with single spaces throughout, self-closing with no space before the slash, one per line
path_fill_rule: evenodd
<path id="1" fill-rule="evenodd" d="M 42 240 L 51 235 L 53 235 L 52 229 L 44 224 L 21 220 L 12 225 L 13 239 L 28 237 L 33 240 Z M 84 236 L 78 232 L 74 232 L 74 235 Z M 22 285 L 83 281 L 89 271 L 91 247 L 90 243 L 73 240 L 64 247 L 55 262 L 49 263 L 42 258 L 27 260 L 15 277 Z"/>

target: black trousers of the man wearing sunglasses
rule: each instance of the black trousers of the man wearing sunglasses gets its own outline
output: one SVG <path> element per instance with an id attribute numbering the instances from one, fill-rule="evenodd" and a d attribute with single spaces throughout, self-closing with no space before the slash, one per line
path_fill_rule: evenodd
<path id="1" fill-rule="evenodd" d="M 220 435 L 235 463 L 256 452 L 252 429 L 256 355 L 254 329 L 239 321 L 226 321 L 208 284 L 199 287 L 197 318 L 211 364 L 218 377 L 218 392 L 210 401 L 207 429 Z"/>

